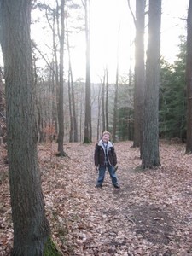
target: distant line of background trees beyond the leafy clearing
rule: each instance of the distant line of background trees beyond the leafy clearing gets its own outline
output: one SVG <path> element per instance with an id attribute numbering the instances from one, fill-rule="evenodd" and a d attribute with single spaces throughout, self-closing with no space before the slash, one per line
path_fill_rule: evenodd
<path id="1" fill-rule="evenodd" d="M 181 141 L 186 141 L 186 37 L 180 37 L 181 43 L 178 45 L 179 52 L 177 60 L 173 64 L 168 63 L 165 59 L 160 61 L 160 138 L 172 139 L 179 138 Z M 34 58 L 33 58 L 34 60 Z M 56 140 L 58 133 L 57 107 L 56 107 L 56 92 L 53 84 L 53 71 L 50 67 L 39 70 L 36 69 L 36 118 L 38 125 L 38 142 L 48 142 Z M 44 75 L 43 75 L 44 73 Z M 3 75 L 2 75 L 3 76 Z M 3 77 L 2 77 L 3 79 Z M 106 109 L 106 105 L 102 105 L 102 100 L 108 102 L 108 130 L 113 131 L 113 92 L 114 84 L 107 85 L 92 83 L 92 122 L 93 122 L 93 137 L 97 138 L 101 135 L 102 130 L 107 127 L 102 127 L 102 115 L 105 112 L 98 113 L 98 109 Z M 101 89 L 103 91 L 101 93 Z M 84 138 L 84 90 L 85 84 L 79 79 L 73 82 L 73 90 L 64 84 L 64 124 L 66 142 L 83 141 Z M 5 136 L 5 96 L 4 85 L 1 82 L 1 135 Z M 104 96 L 104 99 L 102 97 Z M 73 100 L 72 100 L 73 98 Z M 96 100 L 99 99 L 99 100 Z M 108 99 L 108 100 L 107 100 Z M 73 103 L 72 103 L 73 102 Z M 74 118 L 70 106 L 75 104 L 76 117 Z M 104 107 L 102 107 L 104 106 Z M 74 119 L 77 122 L 78 138 L 74 139 L 73 123 Z M 99 122 L 98 127 L 95 124 Z M 72 124 L 72 125 L 71 125 Z M 98 132 L 96 132 L 98 129 Z M 133 140 L 134 136 L 134 76 L 133 73 L 128 77 L 122 77 L 119 81 L 119 101 L 117 109 L 117 132 L 116 139 Z"/>

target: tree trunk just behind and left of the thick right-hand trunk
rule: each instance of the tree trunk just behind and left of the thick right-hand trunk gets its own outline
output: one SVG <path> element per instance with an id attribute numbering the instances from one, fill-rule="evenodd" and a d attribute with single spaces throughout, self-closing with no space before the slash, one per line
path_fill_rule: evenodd
<path id="1" fill-rule="evenodd" d="M 142 145 L 143 98 L 145 83 L 144 28 L 146 0 L 136 1 L 135 88 L 134 88 L 134 139 L 133 147 Z M 141 150 L 142 151 L 142 150 Z"/>

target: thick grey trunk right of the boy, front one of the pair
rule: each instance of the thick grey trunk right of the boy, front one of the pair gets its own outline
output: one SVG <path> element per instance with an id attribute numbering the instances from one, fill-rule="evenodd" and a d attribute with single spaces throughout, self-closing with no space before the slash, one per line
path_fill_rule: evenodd
<path id="1" fill-rule="evenodd" d="M 149 0 L 148 51 L 144 97 L 142 167 L 160 166 L 159 83 L 160 83 L 161 0 Z"/>

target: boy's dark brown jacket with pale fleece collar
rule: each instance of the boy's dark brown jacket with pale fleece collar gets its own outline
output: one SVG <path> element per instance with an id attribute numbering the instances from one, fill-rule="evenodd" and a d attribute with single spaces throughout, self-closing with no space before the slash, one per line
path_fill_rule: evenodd
<path id="1" fill-rule="evenodd" d="M 117 155 L 115 153 L 113 143 L 108 142 L 107 146 L 108 164 L 110 166 L 117 165 Z M 96 143 L 95 154 L 94 154 L 95 166 L 105 166 L 105 147 L 102 140 Z"/>

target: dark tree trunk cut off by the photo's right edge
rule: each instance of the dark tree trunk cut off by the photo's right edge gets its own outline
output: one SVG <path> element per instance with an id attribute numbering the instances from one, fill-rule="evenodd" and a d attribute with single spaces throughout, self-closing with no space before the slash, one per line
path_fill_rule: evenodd
<path id="1" fill-rule="evenodd" d="M 189 0 L 187 19 L 187 63 L 186 63 L 186 85 L 187 85 L 187 142 L 186 153 L 192 153 L 192 0 Z"/>

